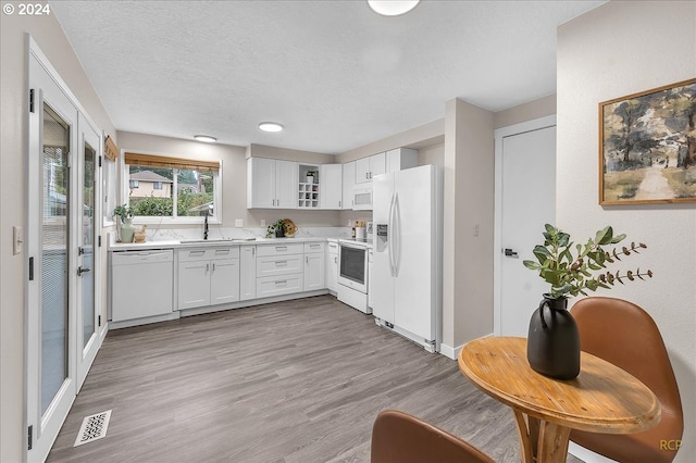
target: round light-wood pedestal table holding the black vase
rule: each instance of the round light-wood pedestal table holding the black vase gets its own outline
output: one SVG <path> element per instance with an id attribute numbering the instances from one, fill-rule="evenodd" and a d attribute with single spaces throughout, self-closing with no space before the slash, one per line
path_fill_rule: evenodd
<path id="1" fill-rule="evenodd" d="M 523 463 L 564 462 L 571 429 L 630 434 L 660 422 L 660 402 L 638 379 L 586 352 L 580 365 L 570 380 L 539 375 L 525 338 L 475 339 L 459 353 L 461 373 L 512 408 Z"/>

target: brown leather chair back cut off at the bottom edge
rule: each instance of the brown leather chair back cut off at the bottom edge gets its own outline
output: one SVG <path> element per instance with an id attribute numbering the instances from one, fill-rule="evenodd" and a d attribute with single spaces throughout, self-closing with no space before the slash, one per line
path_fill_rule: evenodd
<path id="1" fill-rule="evenodd" d="M 396 410 L 377 415 L 372 428 L 372 463 L 493 463 L 467 441 Z"/>

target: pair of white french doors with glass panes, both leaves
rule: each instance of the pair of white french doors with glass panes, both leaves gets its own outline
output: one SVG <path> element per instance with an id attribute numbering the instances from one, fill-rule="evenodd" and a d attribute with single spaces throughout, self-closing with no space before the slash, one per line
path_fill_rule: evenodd
<path id="1" fill-rule="evenodd" d="M 26 460 L 42 462 L 99 349 L 102 141 L 28 42 Z"/>

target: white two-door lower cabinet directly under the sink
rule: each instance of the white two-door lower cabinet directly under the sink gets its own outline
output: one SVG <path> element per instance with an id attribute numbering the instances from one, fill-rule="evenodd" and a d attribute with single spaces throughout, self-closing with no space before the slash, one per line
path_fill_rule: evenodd
<path id="1" fill-rule="evenodd" d="M 178 251 L 178 310 L 239 300 L 239 247 Z"/>

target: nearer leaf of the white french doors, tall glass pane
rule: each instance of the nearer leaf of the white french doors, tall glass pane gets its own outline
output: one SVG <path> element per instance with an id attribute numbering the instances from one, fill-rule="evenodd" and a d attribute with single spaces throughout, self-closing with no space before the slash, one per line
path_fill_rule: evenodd
<path id="1" fill-rule="evenodd" d="M 28 115 L 27 461 L 44 461 L 75 399 L 77 110 L 33 53 Z"/>

